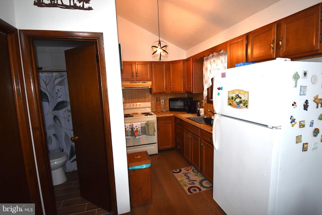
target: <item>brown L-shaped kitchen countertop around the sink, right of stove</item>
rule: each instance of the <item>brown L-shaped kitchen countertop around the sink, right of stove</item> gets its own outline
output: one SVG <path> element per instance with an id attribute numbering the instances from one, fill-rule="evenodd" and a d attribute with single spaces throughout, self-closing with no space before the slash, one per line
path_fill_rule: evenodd
<path id="1" fill-rule="evenodd" d="M 197 116 L 196 113 L 187 113 L 187 112 L 177 112 L 177 111 L 166 111 L 166 112 L 160 112 L 160 113 L 157 113 L 156 111 L 152 111 L 156 117 L 162 117 L 162 116 L 176 116 L 178 117 L 179 119 L 182 119 L 183 121 L 186 121 L 198 128 L 201 128 L 202 130 L 205 130 L 209 133 L 212 132 L 212 126 L 210 125 L 204 125 L 204 124 L 199 124 L 197 122 L 194 122 L 190 119 L 187 119 L 189 117 L 194 117 L 194 116 Z M 208 114 L 205 114 L 205 115 L 202 115 L 202 116 L 210 116 Z"/>

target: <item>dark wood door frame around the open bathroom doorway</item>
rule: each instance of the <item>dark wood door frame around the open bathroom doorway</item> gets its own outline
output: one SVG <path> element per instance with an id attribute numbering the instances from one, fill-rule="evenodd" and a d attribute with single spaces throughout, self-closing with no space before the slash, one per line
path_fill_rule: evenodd
<path id="1" fill-rule="evenodd" d="M 110 130 L 110 114 L 106 83 L 106 69 L 104 57 L 103 34 L 92 32 L 67 32 L 67 31 L 41 31 L 41 30 L 19 30 L 22 61 L 25 74 L 26 92 L 30 109 L 30 120 L 34 137 L 37 166 L 40 184 L 42 187 L 45 211 L 52 214 L 52 208 L 56 206 L 54 192 L 51 182 L 50 164 L 47 155 L 46 135 L 44 132 L 43 116 L 40 102 L 40 91 L 37 84 L 37 67 L 35 61 L 33 40 L 69 40 L 69 41 L 94 41 L 97 43 L 99 52 L 100 78 L 104 111 L 104 125 L 106 135 L 106 154 L 108 158 L 108 171 L 110 175 L 112 211 L 117 214 L 116 190 L 114 165 L 112 154 L 112 140 Z M 56 211 L 56 209 L 54 209 Z"/>

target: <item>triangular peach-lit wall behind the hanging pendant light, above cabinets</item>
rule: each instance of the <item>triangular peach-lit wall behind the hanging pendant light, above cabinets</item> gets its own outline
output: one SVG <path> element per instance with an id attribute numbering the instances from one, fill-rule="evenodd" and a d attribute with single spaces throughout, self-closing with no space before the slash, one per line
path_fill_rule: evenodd
<path id="1" fill-rule="evenodd" d="M 117 16 L 117 29 L 119 42 L 122 44 L 123 60 L 132 61 L 157 61 L 151 55 L 151 45 L 158 40 L 158 36 L 145 29 Z M 169 45 L 167 61 L 185 59 L 186 51 L 178 46 L 160 38 Z"/>

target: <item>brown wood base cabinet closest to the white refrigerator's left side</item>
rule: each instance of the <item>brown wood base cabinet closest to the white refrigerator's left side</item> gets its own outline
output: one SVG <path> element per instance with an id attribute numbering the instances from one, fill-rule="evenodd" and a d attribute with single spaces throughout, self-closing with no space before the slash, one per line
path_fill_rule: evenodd
<path id="1" fill-rule="evenodd" d="M 201 131 L 200 172 L 213 183 L 213 143 L 212 134 Z"/>

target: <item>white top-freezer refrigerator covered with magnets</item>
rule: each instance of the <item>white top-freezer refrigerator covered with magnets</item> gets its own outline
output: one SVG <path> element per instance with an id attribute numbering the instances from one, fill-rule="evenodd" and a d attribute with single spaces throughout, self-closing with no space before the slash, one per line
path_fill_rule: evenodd
<path id="1" fill-rule="evenodd" d="M 215 74 L 213 199 L 228 214 L 322 214 L 322 63 Z"/>

